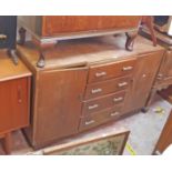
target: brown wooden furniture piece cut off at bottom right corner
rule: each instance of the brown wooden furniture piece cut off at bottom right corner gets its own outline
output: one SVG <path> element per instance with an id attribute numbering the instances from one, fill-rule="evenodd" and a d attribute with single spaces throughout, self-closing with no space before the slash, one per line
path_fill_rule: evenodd
<path id="1" fill-rule="evenodd" d="M 153 154 L 161 154 L 163 151 L 172 144 L 172 111 L 166 120 L 166 123 L 161 132 L 159 141 L 155 145 Z"/>

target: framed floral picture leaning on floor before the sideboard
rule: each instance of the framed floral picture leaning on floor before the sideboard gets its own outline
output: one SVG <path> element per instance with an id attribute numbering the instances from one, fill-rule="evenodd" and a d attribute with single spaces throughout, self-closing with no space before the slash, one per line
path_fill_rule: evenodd
<path id="1" fill-rule="evenodd" d="M 80 139 L 43 150 L 44 155 L 121 155 L 130 131 Z"/>

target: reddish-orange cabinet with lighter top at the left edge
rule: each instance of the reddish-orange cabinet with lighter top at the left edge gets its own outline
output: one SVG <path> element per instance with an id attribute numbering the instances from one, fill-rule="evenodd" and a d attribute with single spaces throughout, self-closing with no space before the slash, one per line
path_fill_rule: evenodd
<path id="1" fill-rule="evenodd" d="M 0 138 L 10 153 L 11 132 L 29 125 L 31 72 L 19 60 L 14 65 L 0 51 Z"/>

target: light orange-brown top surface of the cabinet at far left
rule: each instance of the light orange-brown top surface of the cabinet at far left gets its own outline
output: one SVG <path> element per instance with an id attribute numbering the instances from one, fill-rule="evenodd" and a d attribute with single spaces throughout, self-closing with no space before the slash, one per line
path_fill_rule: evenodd
<path id="1" fill-rule="evenodd" d="M 18 65 L 16 65 L 7 54 L 7 50 L 0 50 L 0 82 L 29 75 L 31 75 L 31 72 L 20 59 Z"/>

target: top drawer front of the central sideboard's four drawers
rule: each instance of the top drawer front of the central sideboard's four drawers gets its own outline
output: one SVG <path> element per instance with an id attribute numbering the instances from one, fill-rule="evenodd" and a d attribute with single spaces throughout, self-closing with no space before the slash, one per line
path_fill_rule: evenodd
<path id="1" fill-rule="evenodd" d="M 135 58 L 132 58 L 130 60 L 90 67 L 88 82 L 99 82 L 120 75 L 131 74 L 133 72 L 135 62 Z"/>

